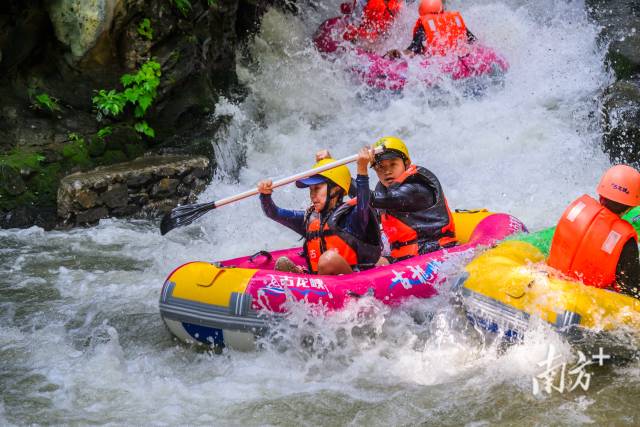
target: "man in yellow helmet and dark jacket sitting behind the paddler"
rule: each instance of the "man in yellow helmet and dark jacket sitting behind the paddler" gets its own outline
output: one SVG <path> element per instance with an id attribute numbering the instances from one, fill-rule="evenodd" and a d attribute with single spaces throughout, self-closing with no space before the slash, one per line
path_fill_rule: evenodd
<path id="1" fill-rule="evenodd" d="M 384 151 L 374 156 L 373 149 L 380 146 Z M 320 151 L 316 158 L 328 155 L 328 151 Z M 369 150 L 369 161 L 380 180 L 371 194 L 371 206 L 380 213 L 391 248 L 391 255 L 380 258 L 378 265 L 457 243 L 453 217 L 440 181 L 433 172 L 411 163 L 402 140 L 392 136 L 381 138 Z"/>

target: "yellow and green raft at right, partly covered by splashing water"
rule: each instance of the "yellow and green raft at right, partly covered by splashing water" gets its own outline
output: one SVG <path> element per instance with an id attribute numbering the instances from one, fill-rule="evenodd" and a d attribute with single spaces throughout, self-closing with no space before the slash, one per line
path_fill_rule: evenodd
<path id="1" fill-rule="evenodd" d="M 640 228 L 640 208 L 624 219 Z M 471 321 L 509 339 L 521 338 L 532 316 L 576 336 L 640 331 L 640 300 L 564 280 L 545 264 L 553 232 L 514 236 L 467 265 L 456 287 Z"/>

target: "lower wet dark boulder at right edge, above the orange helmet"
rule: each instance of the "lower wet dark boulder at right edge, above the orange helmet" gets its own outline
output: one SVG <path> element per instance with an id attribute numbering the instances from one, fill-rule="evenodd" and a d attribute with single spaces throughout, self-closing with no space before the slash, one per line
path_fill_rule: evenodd
<path id="1" fill-rule="evenodd" d="M 614 163 L 640 167 L 640 78 L 610 86 L 603 105 L 605 152 Z"/>

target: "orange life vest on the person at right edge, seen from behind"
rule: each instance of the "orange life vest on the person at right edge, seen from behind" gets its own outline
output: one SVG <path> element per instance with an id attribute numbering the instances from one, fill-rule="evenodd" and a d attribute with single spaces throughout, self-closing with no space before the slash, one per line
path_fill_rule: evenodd
<path id="1" fill-rule="evenodd" d="M 562 214 L 547 264 L 585 285 L 606 288 L 616 280 L 629 239 L 638 241 L 633 226 L 585 194 Z"/>

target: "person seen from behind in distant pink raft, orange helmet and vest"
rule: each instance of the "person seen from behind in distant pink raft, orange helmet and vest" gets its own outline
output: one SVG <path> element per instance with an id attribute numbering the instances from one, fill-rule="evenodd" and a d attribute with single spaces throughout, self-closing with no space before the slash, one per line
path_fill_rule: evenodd
<path id="1" fill-rule="evenodd" d="M 464 47 L 476 41 L 460 12 L 445 11 L 442 0 L 422 0 L 418 12 L 420 17 L 413 27 L 413 40 L 409 47 L 404 51 L 392 49 L 385 56 L 466 54 Z"/>

